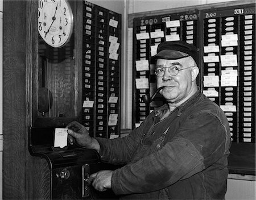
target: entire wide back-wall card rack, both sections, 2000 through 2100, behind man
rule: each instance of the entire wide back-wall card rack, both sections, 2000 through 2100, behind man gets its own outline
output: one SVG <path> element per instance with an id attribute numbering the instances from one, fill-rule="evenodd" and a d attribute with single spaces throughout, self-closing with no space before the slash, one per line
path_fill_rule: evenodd
<path id="1" fill-rule="evenodd" d="M 156 89 L 150 59 L 157 45 L 183 40 L 200 49 L 198 85 L 224 110 L 232 141 L 255 143 L 255 3 L 175 10 L 133 18 L 133 127 L 164 102 L 160 95 L 142 102 Z"/>

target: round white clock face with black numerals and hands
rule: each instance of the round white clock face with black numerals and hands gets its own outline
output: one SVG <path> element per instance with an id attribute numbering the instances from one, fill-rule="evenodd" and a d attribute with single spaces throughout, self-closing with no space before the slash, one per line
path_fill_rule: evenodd
<path id="1" fill-rule="evenodd" d="M 38 32 L 54 48 L 68 43 L 73 31 L 73 13 L 66 0 L 38 1 Z"/>

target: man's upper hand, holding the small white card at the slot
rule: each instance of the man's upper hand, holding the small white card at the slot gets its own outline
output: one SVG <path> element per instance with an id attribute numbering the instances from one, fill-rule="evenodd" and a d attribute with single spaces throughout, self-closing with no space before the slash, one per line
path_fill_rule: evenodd
<path id="1" fill-rule="evenodd" d="M 89 132 L 82 124 L 71 122 L 66 128 L 68 128 L 68 141 L 71 145 L 77 143 L 82 147 L 96 149 L 98 152 L 100 151 L 100 144 L 96 139 L 90 137 Z"/>

